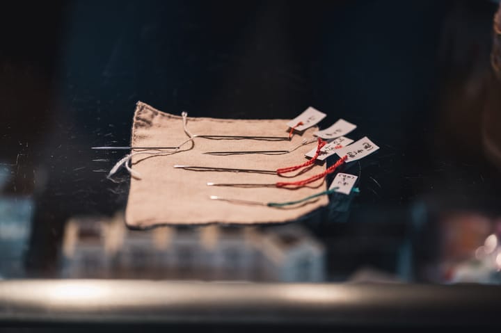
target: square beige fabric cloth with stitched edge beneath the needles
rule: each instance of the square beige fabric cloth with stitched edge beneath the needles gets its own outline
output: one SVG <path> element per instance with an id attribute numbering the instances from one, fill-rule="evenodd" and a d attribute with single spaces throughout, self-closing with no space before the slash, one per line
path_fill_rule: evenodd
<path id="1" fill-rule="evenodd" d="M 287 136 L 287 120 L 229 120 L 202 117 L 188 117 L 187 128 L 198 135 L 240 135 L 240 136 Z M 305 179 L 325 170 L 325 165 L 315 165 L 294 178 L 275 174 L 254 174 L 243 172 L 199 172 L 173 168 L 173 165 L 196 165 L 223 168 L 246 168 L 276 170 L 305 162 L 304 154 L 316 143 L 305 145 L 295 152 L 283 155 L 246 154 L 213 156 L 201 154 L 209 151 L 229 150 L 286 150 L 303 140 L 312 138 L 317 128 L 295 134 L 292 141 L 261 140 L 209 140 L 195 138 L 194 145 L 185 145 L 181 152 L 164 156 L 136 155 L 132 160 L 133 170 L 141 179 L 131 177 L 129 200 L 125 220 L 130 227 L 152 225 L 191 225 L 211 222 L 221 223 L 268 223 L 287 222 L 310 213 L 328 204 L 328 197 L 299 207 L 273 208 L 233 204 L 210 200 L 210 195 L 230 199 L 255 200 L 259 202 L 285 202 L 299 200 L 308 195 L 326 190 L 322 181 L 316 188 L 234 188 L 207 186 L 208 181 L 218 183 L 274 184 L 277 181 Z M 132 126 L 134 147 L 175 147 L 186 140 L 182 117 L 170 115 L 138 102 Z M 136 150 L 135 150 L 136 151 Z M 294 172 L 292 173 L 294 174 Z"/>

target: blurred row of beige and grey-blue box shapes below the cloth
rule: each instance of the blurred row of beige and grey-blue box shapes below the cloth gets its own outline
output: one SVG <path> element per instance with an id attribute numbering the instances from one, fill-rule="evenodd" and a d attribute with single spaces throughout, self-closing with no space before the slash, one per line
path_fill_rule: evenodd
<path id="1" fill-rule="evenodd" d="M 159 227 L 132 231 L 123 215 L 67 222 L 61 273 L 68 278 L 324 281 L 324 247 L 305 229 Z"/>

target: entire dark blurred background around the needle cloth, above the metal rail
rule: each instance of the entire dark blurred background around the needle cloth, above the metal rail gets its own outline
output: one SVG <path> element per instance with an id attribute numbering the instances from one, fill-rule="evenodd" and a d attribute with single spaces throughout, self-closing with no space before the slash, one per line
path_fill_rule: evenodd
<path id="1" fill-rule="evenodd" d="M 501 282 L 497 1 L 10 2 L 0 21 L 0 276 Z M 501 25 L 500 25 L 501 27 Z M 501 57 L 500 57 L 501 59 Z M 127 230 L 136 101 L 342 117 L 381 147 L 296 223 Z M 355 172 L 353 171 L 353 172 Z M 348 170 L 349 172 L 349 170 Z"/>

